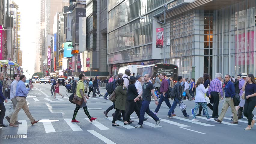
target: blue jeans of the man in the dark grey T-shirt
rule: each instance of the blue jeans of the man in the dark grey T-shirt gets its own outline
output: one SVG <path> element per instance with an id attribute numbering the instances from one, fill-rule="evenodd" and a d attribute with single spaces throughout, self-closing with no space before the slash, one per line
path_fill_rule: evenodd
<path id="1" fill-rule="evenodd" d="M 139 125 L 142 125 L 144 122 L 145 113 L 147 113 L 151 118 L 153 118 L 156 122 L 159 121 L 159 118 L 149 109 L 150 101 L 142 101 L 142 106 L 140 109 L 140 117 L 139 117 Z"/>

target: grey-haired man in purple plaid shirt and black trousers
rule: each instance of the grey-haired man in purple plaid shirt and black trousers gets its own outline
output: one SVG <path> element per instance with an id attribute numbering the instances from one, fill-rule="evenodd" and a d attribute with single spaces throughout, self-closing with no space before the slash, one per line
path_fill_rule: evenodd
<path id="1" fill-rule="evenodd" d="M 209 88 L 209 98 L 213 98 L 213 112 L 212 112 L 212 118 L 218 118 L 218 112 L 219 112 L 219 92 L 221 93 L 221 99 L 223 100 L 223 91 L 221 88 L 221 73 L 216 73 L 215 79 L 212 80 Z"/>

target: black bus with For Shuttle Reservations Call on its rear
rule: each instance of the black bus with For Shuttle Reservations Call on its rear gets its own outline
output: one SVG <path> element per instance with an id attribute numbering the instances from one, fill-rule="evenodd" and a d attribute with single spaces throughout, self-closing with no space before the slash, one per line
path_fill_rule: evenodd
<path id="1" fill-rule="evenodd" d="M 151 64 L 146 66 L 138 67 L 138 74 L 144 76 L 145 74 L 149 74 L 150 76 L 156 76 L 157 73 L 165 73 L 166 76 L 172 76 L 173 82 L 177 82 L 178 80 L 178 66 L 174 64 Z"/>

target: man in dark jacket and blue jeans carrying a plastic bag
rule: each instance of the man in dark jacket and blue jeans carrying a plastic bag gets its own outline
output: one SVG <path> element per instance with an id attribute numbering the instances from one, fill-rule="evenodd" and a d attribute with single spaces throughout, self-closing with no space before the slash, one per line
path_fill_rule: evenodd
<path id="1" fill-rule="evenodd" d="M 177 104 L 180 105 L 180 102 L 182 102 L 182 93 L 181 93 L 181 82 L 182 82 L 182 76 L 178 76 L 178 82 L 174 85 L 171 95 L 171 98 L 174 98 L 174 101 L 172 103 L 172 107 L 170 108 L 167 117 L 169 118 L 174 118 L 172 116 L 172 112 L 175 110 L 175 108 L 177 107 Z M 187 114 L 186 110 L 182 111 L 183 115 L 185 118 L 189 118 L 190 116 Z"/>

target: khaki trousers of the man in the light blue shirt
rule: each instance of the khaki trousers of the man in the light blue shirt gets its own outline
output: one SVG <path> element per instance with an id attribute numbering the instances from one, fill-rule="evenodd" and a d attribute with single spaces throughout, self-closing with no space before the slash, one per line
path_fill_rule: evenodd
<path id="1" fill-rule="evenodd" d="M 21 108 L 24 110 L 24 112 L 28 116 L 30 122 L 33 122 L 35 119 L 31 116 L 31 114 L 29 112 L 29 106 L 27 104 L 26 98 L 25 97 L 17 97 L 16 99 L 17 99 L 17 105 L 12 113 L 10 123 L 14 124 L 15 119 L 17 119 L 18 113 Z"/>

